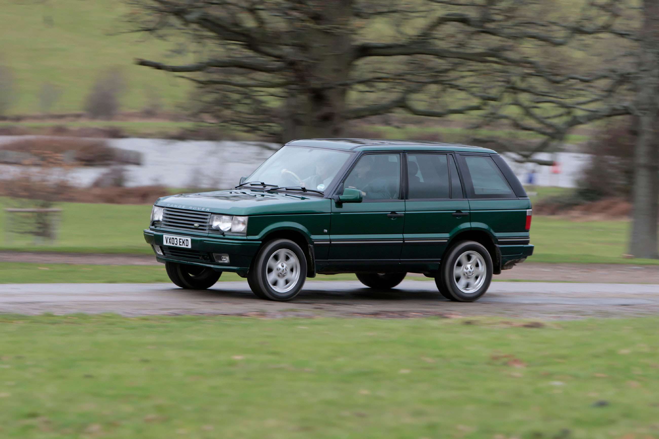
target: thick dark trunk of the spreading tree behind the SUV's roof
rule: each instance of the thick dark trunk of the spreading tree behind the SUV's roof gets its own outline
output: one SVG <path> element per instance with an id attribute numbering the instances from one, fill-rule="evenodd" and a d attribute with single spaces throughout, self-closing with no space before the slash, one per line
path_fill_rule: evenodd
<path id="1" fill-rule="evenodd" d="M 331 138 L 343 135 L 352 43 L 353 0 L 307 2 L 310 20 L 299 23 L 306 59 L 293 66 L 296 85 L 289 88 L 283 137 Z"/>

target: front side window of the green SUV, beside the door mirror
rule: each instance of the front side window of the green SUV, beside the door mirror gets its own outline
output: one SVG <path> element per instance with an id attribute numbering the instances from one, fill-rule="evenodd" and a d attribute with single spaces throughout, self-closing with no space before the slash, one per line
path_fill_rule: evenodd
<path id="1" fill-rule="evenodd" d="M 362 191 L 364 199 L 399 199 L 401 192 L 401 156 L 366 154 L 345 178 L 343 188 Z"/>

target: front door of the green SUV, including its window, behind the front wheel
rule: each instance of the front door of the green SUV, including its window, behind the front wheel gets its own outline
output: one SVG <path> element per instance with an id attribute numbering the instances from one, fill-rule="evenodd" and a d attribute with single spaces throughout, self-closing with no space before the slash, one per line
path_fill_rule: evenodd
<path id="1" fill-rule="evenodd" d="M 405 201 L 401 154 L 367 153 L 343 181 L 362 191 L 361 203 L 332 203 L 329 259 L 341 265 L 399 263 Z"/>

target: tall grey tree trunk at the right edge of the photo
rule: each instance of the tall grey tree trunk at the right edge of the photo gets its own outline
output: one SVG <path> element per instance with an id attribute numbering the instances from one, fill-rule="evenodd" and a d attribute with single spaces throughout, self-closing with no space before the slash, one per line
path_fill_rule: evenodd
<path id="1" fill-rule="evenodd" d="M 629 253 L 659 258 L 659 0 L 644 0 L 637 114 L 639 135 L 634 151 L 633 218 Z"/>

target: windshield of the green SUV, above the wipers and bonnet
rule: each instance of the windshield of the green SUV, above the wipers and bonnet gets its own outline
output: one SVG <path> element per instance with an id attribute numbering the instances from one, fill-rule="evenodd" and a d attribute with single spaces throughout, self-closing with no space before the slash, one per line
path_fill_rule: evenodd
<path id="1" fill-rule="evenodd" d="M 245 181 L 277 186 L 302 186 L 325 192 L 350 155 L 347 151 L 285 146 Z"/>

